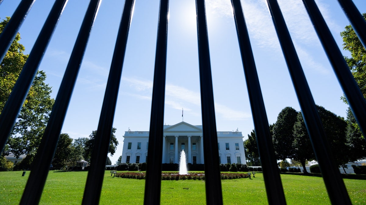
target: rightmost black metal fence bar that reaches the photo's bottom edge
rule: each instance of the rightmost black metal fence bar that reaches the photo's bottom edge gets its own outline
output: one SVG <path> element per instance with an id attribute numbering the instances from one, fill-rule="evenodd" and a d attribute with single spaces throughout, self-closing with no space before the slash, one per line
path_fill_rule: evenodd
<path id="1" fill-rule="evenodd" d="M 328 190 L 330 201 L 332 204 L 351 204 L 339 169 L 332 156 L 324 128 L 318 115 L 317 108 L 315 107 L 315 102 L 311 96 L 305 74 L 303 73 L 279 5 L 276 0 L 267 0 L 267 4 L 299 100 L 310 142 L 313 146 L 325 186 Z"/>

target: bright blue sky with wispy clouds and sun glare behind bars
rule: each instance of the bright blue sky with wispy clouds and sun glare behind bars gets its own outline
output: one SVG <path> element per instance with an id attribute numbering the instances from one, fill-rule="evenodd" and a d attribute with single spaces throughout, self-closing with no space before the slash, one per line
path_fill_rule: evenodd
<path id="1" fill-rule="evenodd" d="M 11 16 L 20 0 L 4 0 L 0 18 Z M 123 2 L 103 0 L 98 11 L 71 98 L 63 133 L 87 137 L 97 129 L 111 65 Z M 230 0 L 206 0 L 217 131 L 239 129 L 247 136 L 254 128 Z M 338 46 L 339 33 L 349 24 L 337 0 L 317 0 Z M 37 0 L 19 32 L 29 53 L 54 0 Z M 365 0 L 354 0 L 361 13 Z M 56 97 L 72 47 L 83 20 L 87 0 L 69 1 L 39 67 Z M 332 67 L 315 34 L 301 0 L 279 0 L 315 103 L 346 117 L 347 105 Z M 300 110 L 290 75 L 265 0 L 242 0 L 269 123 L 286 106 Z M 152 97 L 159 1 L 137 0 L 128 35 L 113 127 L 119 141 L 112 163 L 122 154 L 123 134 L 148 131 Z M 194 0 L 169 3 L 165 124 L 184 121 L 201 125 L 197 28 Z M 344 55 L 349 55 L 343 51 Z"/>

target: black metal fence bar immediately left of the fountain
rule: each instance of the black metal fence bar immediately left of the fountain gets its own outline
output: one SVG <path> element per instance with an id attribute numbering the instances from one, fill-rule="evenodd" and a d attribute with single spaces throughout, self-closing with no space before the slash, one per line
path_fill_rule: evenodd
<path id="1" fill-rule="evenodd" d="M 144 204 L 160 204 L 169 0 L 160 0 Z"/>

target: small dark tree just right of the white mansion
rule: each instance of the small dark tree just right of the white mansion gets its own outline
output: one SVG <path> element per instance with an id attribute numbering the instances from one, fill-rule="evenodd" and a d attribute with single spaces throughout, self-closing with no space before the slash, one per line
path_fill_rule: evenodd
<path id="1" fill-rule="evenodd" d="M 248 139 L 244 140 L 245 158 L 248 160 L 248 166 L 261 166 L 261 161 L 258 153 L 257 139 L 253 129 L 248 135 Z"/>

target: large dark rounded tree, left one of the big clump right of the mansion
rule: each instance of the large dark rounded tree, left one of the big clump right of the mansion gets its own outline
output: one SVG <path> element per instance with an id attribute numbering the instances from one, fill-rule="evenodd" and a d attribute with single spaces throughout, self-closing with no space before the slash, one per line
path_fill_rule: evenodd
<path id="1" fill-rule="evenodd" d="M 298 112 L 292 107 L 285 107 L 278 114 L 272 135 L 277 159 L 285 160 L 294 155 L 292 143 L 294 142 L 294 124 L 297 115 Z"/>

